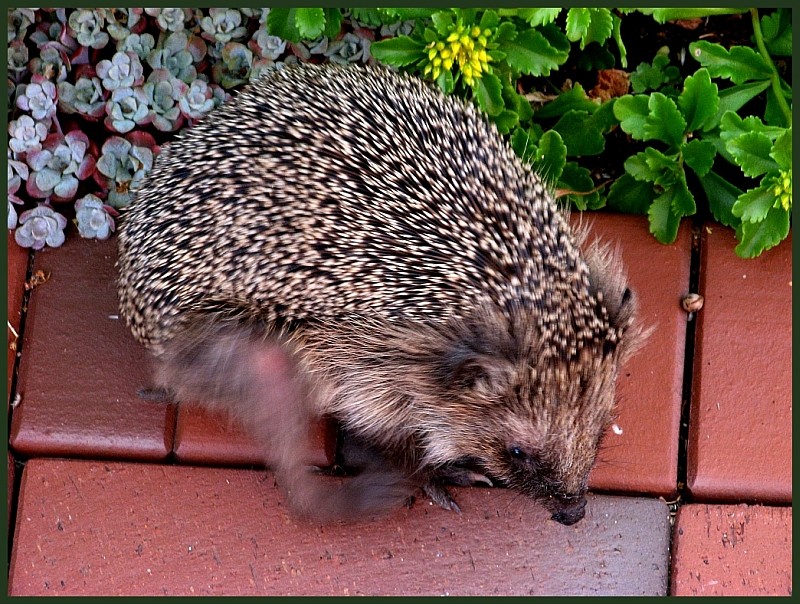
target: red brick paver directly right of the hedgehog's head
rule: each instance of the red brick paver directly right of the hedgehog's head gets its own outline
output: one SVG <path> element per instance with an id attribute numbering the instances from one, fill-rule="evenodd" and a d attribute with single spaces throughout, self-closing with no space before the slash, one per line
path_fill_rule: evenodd
<path id="1" fill-rule="evenodd" d="M 689 287 L 691 229 L 681 226 L 672 245 L 658 244 L 641 216 L 585 218 L 593 234 L 618 245 L 642 322 L 653 332 L 622 368 L 618 417 L 608 431 L 590 487 L 665 497 L 677 483 L 686 313 L 680 300 Z"/>

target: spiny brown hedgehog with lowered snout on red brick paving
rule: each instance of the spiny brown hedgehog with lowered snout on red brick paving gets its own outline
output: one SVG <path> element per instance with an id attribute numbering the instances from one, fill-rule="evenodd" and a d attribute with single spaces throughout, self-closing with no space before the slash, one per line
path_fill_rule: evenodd
<path id="1" fill-rule="evenodd" d="M 459 511 L 448 486 L 485 483 L 568 525 L 641 334 L 618 251 L 586 239 L 471 103 L 286 66 L 165 146 L 122 221 L 120 312 L 300 515 Z M 302 459 L 323 416 L 344 477 Z"/>

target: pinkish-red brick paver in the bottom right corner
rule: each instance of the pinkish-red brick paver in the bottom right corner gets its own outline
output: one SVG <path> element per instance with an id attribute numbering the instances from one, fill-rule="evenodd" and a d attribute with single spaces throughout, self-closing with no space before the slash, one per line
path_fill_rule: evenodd
<path id="1" fill-rule="evenodd" d="M 672 559 L 672 595 L 792 595 L 792 509 L 684 506 Z"/>

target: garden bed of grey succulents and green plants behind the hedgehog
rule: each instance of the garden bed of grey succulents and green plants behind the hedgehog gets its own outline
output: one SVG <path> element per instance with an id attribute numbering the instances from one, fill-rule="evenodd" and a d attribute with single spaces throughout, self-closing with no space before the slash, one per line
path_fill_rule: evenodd
<path id="1" fill-rule="evenodd" d="M 297 61 L 379 61 L 474 102 L 566 202 L 647 214 L 661 241 L 695 212 L 736 229 L 742 256 L 791 228 L 792 91 L 780 75 L 789 72 L 780 57 L 791 56 L 790 9 L 8 12 L 12 229 L 17 209 L 49 220 L 25 213 L 35 204 L 59 213 L 95 195 L 104 208 L 124 206 L 184 124 Z M 665 24 L 665 46 L 648 63 L 638 41 L 629 53 L 623 38 L 630 45 L 628 23 L 646 30 L 651 17 Z M 667 24 L 676 19 L 695 21 Z M 716 19 L 733 26 L 725 39 L 736 43 L 713 42 Z M 750 22 L 752 40 L 741 27 Z M 78 131 L 88 146 L 69 145 L 78 135 L 65 134 Z M 82 234 L 103 225 L 95 205 L 81 206 Z"/>

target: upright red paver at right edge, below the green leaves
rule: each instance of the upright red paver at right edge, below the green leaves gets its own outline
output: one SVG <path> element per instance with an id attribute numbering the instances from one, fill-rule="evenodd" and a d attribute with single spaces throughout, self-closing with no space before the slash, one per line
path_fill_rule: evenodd
<path id="1" fill-rule="evenodd" d="M 703 501 L 792 498 L 792 240 L 754 260 L 705 229 L 688 486 Z"/>

